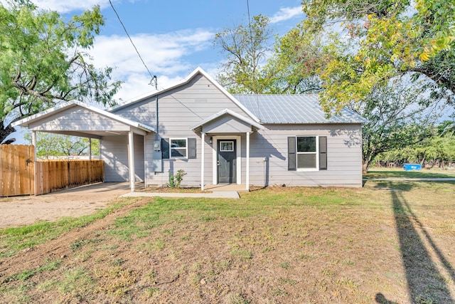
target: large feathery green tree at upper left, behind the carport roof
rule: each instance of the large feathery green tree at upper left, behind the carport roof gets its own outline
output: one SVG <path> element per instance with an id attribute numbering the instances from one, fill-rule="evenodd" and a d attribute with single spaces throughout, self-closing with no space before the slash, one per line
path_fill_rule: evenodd
<path id="1" fill-rule="evenodd" d="M 113 105 L 120 82 L 85 53 L 104 24 L 100 6 L 65 20 L 28 0 L 0 6 L 0 142 L 9 122 L 68 100 Z"/>

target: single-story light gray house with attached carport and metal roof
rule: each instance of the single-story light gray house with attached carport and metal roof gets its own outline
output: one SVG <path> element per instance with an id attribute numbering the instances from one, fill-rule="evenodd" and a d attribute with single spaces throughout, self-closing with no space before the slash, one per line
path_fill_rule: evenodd
<path id="1" fill-rule="evenodd" d="M 327 118 L 317 95 L 231 95 L 197 68 L 171 88 L 108 110 L 77 101 L 14 125 L 97 138 L 105 182 L 166 185 L 362 186 L 362 124 Z"/>

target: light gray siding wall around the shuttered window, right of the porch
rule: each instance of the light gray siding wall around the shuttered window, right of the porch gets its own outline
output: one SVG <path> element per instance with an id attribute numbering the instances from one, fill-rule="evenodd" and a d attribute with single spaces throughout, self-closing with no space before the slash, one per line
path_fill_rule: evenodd
<path id="1" fill-rule="evenodd" d="M 327 137 L 327 170 L 288 171 L 287 137 L 299 135 Z M 360 125 L 267 125 L 266 130 L 254 133 L 250 140 L 251 184 L 362 186 Z"/>

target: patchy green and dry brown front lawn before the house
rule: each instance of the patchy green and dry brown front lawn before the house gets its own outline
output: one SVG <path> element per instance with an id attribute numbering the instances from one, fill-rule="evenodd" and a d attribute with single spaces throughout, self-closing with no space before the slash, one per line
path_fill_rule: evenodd
<path id="1" fill-rule="evenodd" d="M 454 197 L 455 182 L 367 181 L 124 199 L 1 230 L 0 303 L 454 303 Z"/>

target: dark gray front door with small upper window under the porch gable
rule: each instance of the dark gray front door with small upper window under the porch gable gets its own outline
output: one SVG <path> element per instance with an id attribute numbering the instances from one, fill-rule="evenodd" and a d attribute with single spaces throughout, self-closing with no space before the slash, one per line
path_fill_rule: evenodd
<path id="1" fill-rule="evenodd" d="M 237 183 L 236 140 L 218 140 L 218 184 Z"/>

